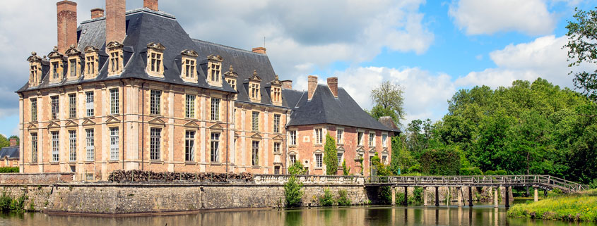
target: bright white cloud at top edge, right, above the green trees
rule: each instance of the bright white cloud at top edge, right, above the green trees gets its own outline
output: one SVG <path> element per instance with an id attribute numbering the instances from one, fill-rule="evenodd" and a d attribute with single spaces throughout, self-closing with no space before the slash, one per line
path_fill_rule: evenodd
<path id="1" fill-rule="evenodd" d="M 545 0 L 459 0 L 449 6 L 449 15 L 469 35 L 510 31 L 548 34 L 556 25 Z"/>

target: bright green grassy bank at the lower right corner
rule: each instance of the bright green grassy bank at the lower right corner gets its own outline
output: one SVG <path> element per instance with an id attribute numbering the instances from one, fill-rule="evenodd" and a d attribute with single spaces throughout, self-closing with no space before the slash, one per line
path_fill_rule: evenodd
<path id="1" fill-rule="evenodd" d="M 509 217 L 597 222 L 597 189 L 512 206 Z"/>

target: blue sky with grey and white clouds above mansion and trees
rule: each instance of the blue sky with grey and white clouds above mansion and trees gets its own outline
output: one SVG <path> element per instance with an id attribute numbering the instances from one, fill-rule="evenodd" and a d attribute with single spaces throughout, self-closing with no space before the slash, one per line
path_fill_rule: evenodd
<path id="1" fill-rule="evenodd" d="M 56 2 L 0 7 L 0 134 L 18 134 L 17 89 L 31 51 L 57 45 Z M 76 1 L 78 22 L 104 0 Z M 338 77 L 364 109 L 384 81 L 404 91 L 407 125 L 441 120 L 459 89 L 507 87 L 543 77 L 574 88 L 567 67 L 567 21 L 597 0 L 218 0 L 160 1 L 195 39 L 250 50 L 264 46 L 280 80 L 307 89 L 307 75 Z M 143 7 L 126 2 L 127 10 Z M 575 70 L 592 69 L 583 65 Z M 594 68 L 594 67 L 593 67 Z M 593 69 L 594 70 L 594 69 Z"/>

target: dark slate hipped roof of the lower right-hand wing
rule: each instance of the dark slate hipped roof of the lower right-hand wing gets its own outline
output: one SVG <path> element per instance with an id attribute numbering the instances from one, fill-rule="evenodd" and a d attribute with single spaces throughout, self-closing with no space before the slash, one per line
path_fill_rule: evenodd
<path id="1" fill-rule="evenodd" d="M 308 101 L 307 92 L 283 89 L 282 94 L 287 97 L 288 104 L 293 106 L 288 126 L 327 123 L 372 130 L 394 131 L 363 111 L 348 92 L 341 87 L 338 87 L 337 98 L 333 96 L 325 84 L 317 85 L 311 101 Z"/>

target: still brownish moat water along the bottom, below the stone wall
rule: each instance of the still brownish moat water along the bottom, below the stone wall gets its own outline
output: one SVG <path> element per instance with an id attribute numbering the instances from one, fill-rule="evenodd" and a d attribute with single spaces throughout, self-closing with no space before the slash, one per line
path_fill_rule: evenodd
<path id="1" fill-rule="evenodd" d="M 561 221 L 507 218 L 506 208 L 390 207 L 302 208 L 294 210 L 210 211 L 189 215 L 83 217 L 25 213 L 0 215 L 0 225 L 583 225 Z"/>

